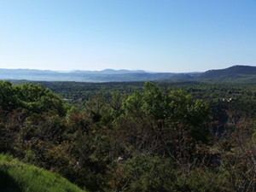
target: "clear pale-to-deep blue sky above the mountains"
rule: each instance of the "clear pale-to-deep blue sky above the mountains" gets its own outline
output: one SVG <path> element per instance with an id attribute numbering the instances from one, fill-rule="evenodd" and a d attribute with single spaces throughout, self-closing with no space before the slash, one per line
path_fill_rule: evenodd
<path id="1" fill-rule="evenodd" d="M 0 68 L 256 66 L 256 0 L 0 0 Z"/>

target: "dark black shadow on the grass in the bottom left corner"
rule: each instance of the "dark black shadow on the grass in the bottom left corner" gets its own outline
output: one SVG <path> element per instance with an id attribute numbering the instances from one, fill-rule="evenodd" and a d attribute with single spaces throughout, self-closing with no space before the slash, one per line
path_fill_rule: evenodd
<path id="1" fill-rule="evenodd" d="M 1 192 L 22 192 L 15 179 L 7 172 L 0 171 L 0 191 Z"/>

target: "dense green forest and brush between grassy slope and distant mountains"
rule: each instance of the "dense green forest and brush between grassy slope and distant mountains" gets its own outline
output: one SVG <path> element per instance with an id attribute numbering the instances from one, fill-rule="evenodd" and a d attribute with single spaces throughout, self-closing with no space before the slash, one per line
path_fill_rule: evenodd
<path id="1" fill-rule="evenodd" d="M 256 88 L 0 81 L 0 153 L 88 191 L 256 191 Z"/>

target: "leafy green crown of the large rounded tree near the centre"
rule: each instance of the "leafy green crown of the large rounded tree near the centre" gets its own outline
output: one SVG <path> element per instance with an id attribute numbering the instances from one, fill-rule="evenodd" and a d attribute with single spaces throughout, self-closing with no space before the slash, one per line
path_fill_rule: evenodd
<path id="1" fill-rule="evenodd" d="M 128 131 L 128 135 L 136 133 L 139 143 L 161 144 L 161 147 L 154 146 L 156 150 L 169 148 L 169 144 L 184 139 L 207 143 L 209 108 L 182 90 L 163 92 L 148 82 L 143 92 L 136 91 L 125 100 L 123 108 L 125 115 L 119 119 L 120 127 L 125 127 L 123 131 Z"/>

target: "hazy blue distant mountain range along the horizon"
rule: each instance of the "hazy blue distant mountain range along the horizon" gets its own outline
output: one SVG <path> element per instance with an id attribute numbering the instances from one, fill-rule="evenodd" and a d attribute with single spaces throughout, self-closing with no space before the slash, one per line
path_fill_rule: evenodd
<path id="1" fill-rule="evenodd" d="M 150 73 L 143 70 L 113 70 L 55 72 L 35 69 L 0 69 L 2 80 L 32 81 L 78 81 L 78 82 L 123 82 L 123 81 L 162 81 L 162 80 L 237 80 L 250 79 L 256 82 L 256 67 L 233 66 L 209 70 L 205 73 Z"/>

